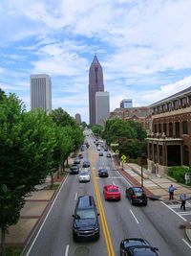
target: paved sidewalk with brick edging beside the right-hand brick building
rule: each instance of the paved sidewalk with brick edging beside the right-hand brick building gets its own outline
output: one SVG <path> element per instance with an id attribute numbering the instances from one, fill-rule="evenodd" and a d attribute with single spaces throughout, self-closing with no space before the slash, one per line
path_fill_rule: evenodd
<path id="1" fill-rule="evenodd" d="M 141 186 L 141 167 L 133 163 L 123 164 L 123 170 L 121 166 L 116 166 L 121 175 L 128 178 L 133 186 Z M 167 204 L 180 203 L 180 194 L 185 193 L 187 198 L 191 198 L 191 187 L 181 185 L 174 181 L 170 177 L 159 177 L 155 174 L 151 174 L 146 169 L 143 169 L 143 187 L 148 198 L 153 200 L 162 200 Z M 173 184 L 177 188 L 174 192 L 174 199 L 169 200 L 168 188 Z M 191 222 L 185 224 L 185 233 L 187 238 L 191 242 Z"/>

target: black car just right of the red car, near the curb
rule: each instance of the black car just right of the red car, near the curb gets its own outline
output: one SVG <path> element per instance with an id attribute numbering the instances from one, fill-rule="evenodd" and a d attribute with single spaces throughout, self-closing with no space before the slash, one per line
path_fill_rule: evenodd
<path id="1" fill-rule="evenodd" d="M 130 199 L 131 204 L 147 205 L 148 198 L 141 187 L 130 187 L 126 189 L 125 196 Z"/>

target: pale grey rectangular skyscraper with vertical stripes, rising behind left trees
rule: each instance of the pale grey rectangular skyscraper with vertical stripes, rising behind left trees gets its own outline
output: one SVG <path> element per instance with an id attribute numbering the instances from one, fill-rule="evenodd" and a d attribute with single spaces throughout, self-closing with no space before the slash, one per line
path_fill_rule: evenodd
<path id="1" fill-rule="evenodd" d="M 31 109 L 42 108 L 48 114 L 52 110 L 52 81 L 49 75 L 31 75 Z"/>

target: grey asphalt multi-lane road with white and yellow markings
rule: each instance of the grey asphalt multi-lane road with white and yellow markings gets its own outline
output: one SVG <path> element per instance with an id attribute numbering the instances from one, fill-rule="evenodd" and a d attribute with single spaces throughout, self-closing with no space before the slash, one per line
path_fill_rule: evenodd
<path id="1" fill-rule="evenodd" d="M 88 136 L 90 148 L 83 151 L 84 160 L 90 160 L 91 181 L 79 183 L 77 175 L 68 175 L 62 184 L 52 208 L 36 234 L 26 255 L 30 256 L 114 256 L 119 255 L 122 239 L 147 239 L 159 248 L 159 255 L 191 255 L 182 220 L 160 201 L 149 200 L 147 206 L 132 206 L 124 191 L 131 184 L 115 170 L 111 158 L 98 156 L 93 139 Z M 109 169 L 109 177 L 99 178 L 99 167 Z M 106 201 L 103 186 L 115 184 L 121 191 L 121 200 Z M 100 213 L 100 239 L 96 242 L 74 243 L 73 217 L 78 196 L 93 195 Z"/>

